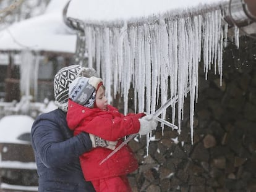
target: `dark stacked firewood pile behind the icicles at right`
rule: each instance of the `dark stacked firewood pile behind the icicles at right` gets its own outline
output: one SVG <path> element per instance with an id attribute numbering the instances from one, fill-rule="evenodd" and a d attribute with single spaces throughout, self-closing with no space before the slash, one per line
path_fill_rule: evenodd
<path id="1" fill-rule="evenodd" d="M 224 53 L 223 86 L 200 69 L 193 145 L 189 98 L 181 135 L 158 128 L 148 156 L 145 136 L 130 141 L 140 165 L 129 175 L 134 191 L 256 191 L 256 51 L 243 42 Z"/>

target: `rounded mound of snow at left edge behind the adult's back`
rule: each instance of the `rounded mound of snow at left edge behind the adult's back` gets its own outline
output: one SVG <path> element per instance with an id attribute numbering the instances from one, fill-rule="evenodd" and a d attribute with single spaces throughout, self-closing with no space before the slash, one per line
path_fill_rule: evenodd
<path id="1" fill-rule="evenodd" d="M 0 119 L 1 143 L 28 143 L 18 140 L 22 133 L 30 133 L 34 119 L 27 115 L 9 115 Z"/>

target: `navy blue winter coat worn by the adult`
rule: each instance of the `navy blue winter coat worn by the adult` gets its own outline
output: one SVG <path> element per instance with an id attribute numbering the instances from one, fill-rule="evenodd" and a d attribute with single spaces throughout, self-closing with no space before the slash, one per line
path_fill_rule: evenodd
<path id="1" fill-rule="evenodd" d="M 92 148 L 87 133 L 73 136 L 67 127 L 66 112 L 56 109 L 41 114 L 31 130 L 38 172 L 38 192 L 95 191 L 85 182 L 79 156 Z"/>

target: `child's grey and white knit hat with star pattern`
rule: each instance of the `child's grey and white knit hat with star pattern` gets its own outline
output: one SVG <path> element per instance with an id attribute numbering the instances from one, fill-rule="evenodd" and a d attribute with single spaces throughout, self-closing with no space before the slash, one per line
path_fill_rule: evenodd
<path id="1" fill-rule="evenodd" d="M 85 107 L 93 107 L 96 90 L 102 85 L 98 77 L 78 77 L 69 85 L 69 98 Z"/>

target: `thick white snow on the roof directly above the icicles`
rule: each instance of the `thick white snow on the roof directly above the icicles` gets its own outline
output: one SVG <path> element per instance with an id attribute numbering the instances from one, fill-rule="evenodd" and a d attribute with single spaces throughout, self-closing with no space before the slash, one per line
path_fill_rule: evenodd
<path id="1" fill-rule="evenodd" d="M 171 10 L 217 4 L 228 0 L 71 0 L 67 17 L 88 21 L 127 20 L 163 14 Z"/>

